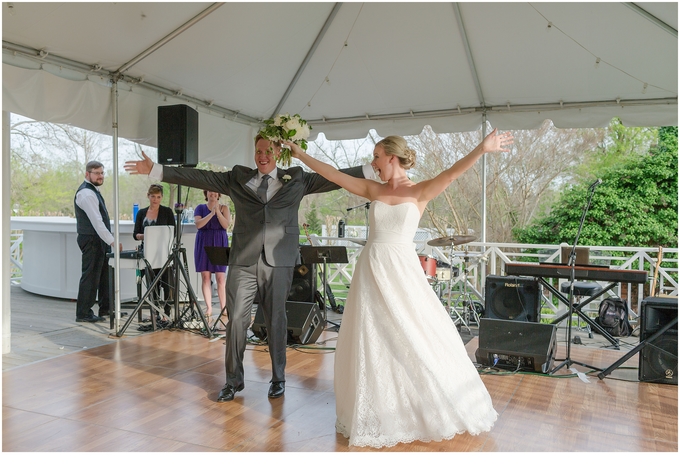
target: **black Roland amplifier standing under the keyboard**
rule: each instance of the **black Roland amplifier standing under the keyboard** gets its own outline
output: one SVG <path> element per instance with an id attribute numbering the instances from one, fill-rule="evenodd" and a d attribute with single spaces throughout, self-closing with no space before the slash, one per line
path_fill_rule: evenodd
<path id="1" fill-rule="evenodd" d="M 487 276 L 484 316 L 496 320 L 538 322 L 541 291 L 532 277 Z"/>

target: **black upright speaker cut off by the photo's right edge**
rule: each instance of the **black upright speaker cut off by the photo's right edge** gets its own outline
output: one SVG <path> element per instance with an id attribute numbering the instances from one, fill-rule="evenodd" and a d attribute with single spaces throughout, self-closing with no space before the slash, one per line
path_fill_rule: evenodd
<path id="1" fill-rule="evenodd" d="M 677 297 L 647 297 L 642 300 L 640 343 L 678 318 Z M 678 326 L 670 327 L 661 336 L 640 350 L 638 380 L 678 384 Z"/>

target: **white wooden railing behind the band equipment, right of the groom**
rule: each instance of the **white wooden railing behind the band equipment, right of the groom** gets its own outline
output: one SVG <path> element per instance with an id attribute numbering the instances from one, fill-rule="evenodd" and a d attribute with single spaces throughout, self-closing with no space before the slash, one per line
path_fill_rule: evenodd
<path id="1" fill-rule="evenodd" d="M 343 299 L 352 280 L 355 262 L 363 249 L 357 242 L 345 238 L 317 237 L 312 235 L 314 245 L 344 245 L 347 247 L 349 263 L 329 264 L 327 282 L 336 298 Z M 473 242 L 467 245 L 468 251 L 459 251 L 460 247 L 430 247 L 426 242 L 415 241 L 416 250 L 419 254 L 425 254 L 438 261 L 438 264 L 452 265 L 457 268 L 458 274 L 450 281 L 434 282 L 433 288 L 439 293 L 443 303 L 448 299 L 455 299 L 460 295 L 463 286 L 467 283 L 467 291 L 473 300 L 484 302 L 486 277 L 489 275 L 505 275 L 506 263 L 538 263 L 559 262 L 560 245 L 529 245 L 517 243 L 479 243 Z M 618 283 L 607 295 L 615 295 L 625 299 L 632 310 L 633 316 L 640 311 L 642 300 L 649 295 L 651 280 L 655 274 L 658 248 L 642 247 L 612 247 L 591 246 L 589 263 L 598 266 L 607 266 L 614 269 L 629 269 L 646 271 L 647 282 L 644 285 L 632 283 Z M 678 248 L 663 248 L 663 259 L 657 274 L 657 289 L 662 295 L 678 295 Z M 466 279 L 467 271 L 467 279 Z M 455 270 L 454 270 L 455 273 Z M 560 290 L 560 283 L 565 279 L 546 278 Z M 598 282 L 602 287 L 609 283 Z M 449 291 L 451 295 L 449 295 Z M 566 296 L 566 295 L 565 295 Z M 601 300 L 601 299 L 600 299 Z M 591 302 L 586 311 L 597 310 L 599 302 Z M 555 318 L 567 311 L 567 306 L 548 290 L 542 292 L 542 317 Z"/>

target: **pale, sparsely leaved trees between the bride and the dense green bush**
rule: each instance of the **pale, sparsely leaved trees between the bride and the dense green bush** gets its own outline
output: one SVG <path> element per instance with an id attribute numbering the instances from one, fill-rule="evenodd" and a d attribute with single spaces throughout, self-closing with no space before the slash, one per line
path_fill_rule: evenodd
<path id="1" fill-rule="evenodd" d="M 486 156 L 487 237 L 494 242 L 512 241 L 513 228 L 526 225 L 554 201 L 555 194 L 573 179 L 573 168 L 604 136 L 604 131 L 593 129 L 557 129 L 550 121 L 537 129 L 512 133 L 515 143 L 511 152 Z M 426 127 L 419 136 L 408 138 L 419 156 L 411 178 L 434 178 L 481 139 L 479 131 L 436 134 Z M 421 227 L 434 228 L 442 236 L 450 229 L 457 234 L 480 233 L 483 169 L 483 162 L 477 162 L 430 201 Z"/>

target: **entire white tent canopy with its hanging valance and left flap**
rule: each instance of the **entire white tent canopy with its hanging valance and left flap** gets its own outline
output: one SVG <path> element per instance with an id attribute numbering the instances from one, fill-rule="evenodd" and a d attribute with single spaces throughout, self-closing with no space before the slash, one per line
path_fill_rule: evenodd
<path id="1" fill-rule="evenodd" d="M 250 164 L 263 119 L 329 139 L 677 125 L 677 3 L 3 3 L 3 109 L 156 143 L 200 112 L 201 161 Z M 42 52 L 41 52 L 42 51 Z"/>

